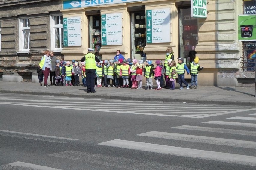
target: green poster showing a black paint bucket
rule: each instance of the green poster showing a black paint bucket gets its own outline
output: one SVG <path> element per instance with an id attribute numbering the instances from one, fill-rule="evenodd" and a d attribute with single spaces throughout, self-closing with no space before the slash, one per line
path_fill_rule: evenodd
<path id="1" fill-rule="evenodd" d="M 256 41 L 256 16 L 238 16 L 238 41 Z"/>

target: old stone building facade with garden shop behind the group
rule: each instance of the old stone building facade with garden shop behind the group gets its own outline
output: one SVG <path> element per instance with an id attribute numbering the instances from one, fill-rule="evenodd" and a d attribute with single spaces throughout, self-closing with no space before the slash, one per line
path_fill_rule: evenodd
<path id="1" fill-rule="evenodd" d="M 176 62 L 183 57 L 189 64 L 199 57 L 200 66 L 204 66 L 198 76 L 200 85 L 241 86 L 255 81 L 255 40 L 238 36 L 238 16 L 255 16 L 255 1 L 4 2 L 0 0 L 3 81 L 33 82 L 46 49 L 68 61 L 80 60 L 87 48 L 93 48 L 102 60 L 114 59 L 120 50 L 125 58 L 164 61 L 169 46 Z M 191 16 L 197 14 L 201 18 Z M 255 22 L 252 25 L 246 29 L 256 29 Z M 24 30 L 28 28 L 27 36 Z M 255 36 L 256 31 L 251 31 Z M 190 75 L 185 78 L 189 81 Z"/>

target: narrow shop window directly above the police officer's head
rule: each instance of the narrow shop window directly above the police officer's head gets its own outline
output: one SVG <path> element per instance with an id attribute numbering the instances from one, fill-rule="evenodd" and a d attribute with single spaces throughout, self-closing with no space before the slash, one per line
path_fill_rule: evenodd
<path id="1" fill-rule="evenodd" d="M 101 48 L 101 18 L 100 15 L 89 16 L 89 44 L 97 56 Z"/>

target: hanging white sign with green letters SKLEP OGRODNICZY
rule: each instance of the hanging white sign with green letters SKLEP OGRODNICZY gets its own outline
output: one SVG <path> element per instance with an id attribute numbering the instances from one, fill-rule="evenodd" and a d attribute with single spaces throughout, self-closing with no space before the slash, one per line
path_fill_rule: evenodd
<path id="1" fill-rule="evenodd" d="M 195 18 L 207 18 L 206 0 L 191 0 L 191 16 Z"/>

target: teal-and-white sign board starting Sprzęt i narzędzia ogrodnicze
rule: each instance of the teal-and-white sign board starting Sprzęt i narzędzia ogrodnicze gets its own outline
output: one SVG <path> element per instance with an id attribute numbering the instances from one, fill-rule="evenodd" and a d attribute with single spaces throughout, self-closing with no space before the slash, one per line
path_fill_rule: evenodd
<path id="1" fill-rule="evenodd" d="M 122 45 L 122 13 L 101 15 L 102 45 Z"/>

